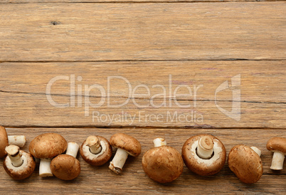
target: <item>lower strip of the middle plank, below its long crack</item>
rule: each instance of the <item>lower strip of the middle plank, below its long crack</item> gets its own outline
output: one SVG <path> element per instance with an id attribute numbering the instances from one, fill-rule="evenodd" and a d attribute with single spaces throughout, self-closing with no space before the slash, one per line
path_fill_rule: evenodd
<path id="1" fill-rule="evenodd" d="M 66 103 L 68 97 L 55 96 L 58 103 Z M 90 97 L 90 102 L 96 104 L 101 97 Z M 112 104 L 121 104 L 126 98 L 112 97 Z M 147 105 L 149 100 L 135 99 L 138 105 Z M 160 105 L 162 100 L 154 100 Z M 178 100 L 185 105 L 186 101 Z M 111 105 L 112 105 L 111 104 Z M 219 105 L 231 111 L 231 102 L 219 102 Z M 196 107 L 145 108 L 134 105 L 130 100 L 121 107 L 110 107 L 105 102 L 100 107 L 89 105 L 82 107 L 54 107 L 46 95 L 1 93 L 0 110 L 1 124 L 11 127 L 40 126 L 129 126 L 129 127 L 256 127 L 285 128 L 286 104 L 241 102 L 238 112 L 240 120 L 234 120 L 223 114 L 213 101 L 197 101 Z"/>

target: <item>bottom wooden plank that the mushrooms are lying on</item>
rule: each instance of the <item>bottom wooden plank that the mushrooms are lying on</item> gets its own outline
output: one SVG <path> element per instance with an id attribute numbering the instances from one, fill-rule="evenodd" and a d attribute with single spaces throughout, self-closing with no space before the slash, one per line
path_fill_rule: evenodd
<path id="1" fill-rule="evenodd" d="M 33 137 L 44 132 L 58 132 L 68 142 L 81 144 L 88 135 L 101 135 L 110 139 L 115 132 L 125 132 L 136 137 L 142 144 L 142 154 L 137 158 L 129 157 L 122 175 L 116 175 L 108 169 L 108 164 L 102 167 L 91 167 L 78 154 L 81 164 L 81 174 L 74 181 L 60 181 L 56 178 L 41 179 L 38 177 L 38 168 L 33 175 L 24 181 L 13 181 L 0 169 L 0 193 L 9 194 L 11 190 L 25 193 L 182 193 L 182 194 L 213 194 L 215 193 L 274 193 L 285 194 L 286 169 L 281 172 L 272 172 L 269 167 L 272 152 L 265 144 L 270 137 L 285 136 L 285 130 L 178 130 L 178 129 L 94 129 L 94 128 L 7 128 L 10 135 L 22 133 L 28 138 L 25 150 Z M 167 143 L 181 152 L 186 139 L 192 135 L 210 133 L 225 144 L 227 153 L 235 144 L 255 145 L 262 150 L 264 174 L 256 184 L 241 183 L 228 169 L 227 163 L 222 171 L 214 176 L 197 176 L 184 167 L 183 174 L 171 184 L 158 184 L 146 176 L 142 170 L 141 160 L 144 152 L 152 147 L 152 139 L 165 137 Z M 3 160 L 1 159 L 1 162 Z M 1 163 L 2 164 L 2 163 Z M 227 187 L 227 189 L 226 189 Z"/>

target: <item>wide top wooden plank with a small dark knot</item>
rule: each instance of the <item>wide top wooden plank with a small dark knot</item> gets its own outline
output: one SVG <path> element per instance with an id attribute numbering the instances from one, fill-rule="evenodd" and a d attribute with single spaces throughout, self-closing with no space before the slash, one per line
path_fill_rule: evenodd
<path id="1" fill-rule="evenodd" d="M 285 9 L 285 2 L 1 4 L 0 61 L 285 59 Z"/>

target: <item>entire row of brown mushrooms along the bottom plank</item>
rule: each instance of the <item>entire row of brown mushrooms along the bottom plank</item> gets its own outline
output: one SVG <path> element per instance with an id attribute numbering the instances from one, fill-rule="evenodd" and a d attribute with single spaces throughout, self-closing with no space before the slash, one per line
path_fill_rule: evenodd
<path id="1" fill-rule="evenodd" d="M 116 174 L 122 172 L 127 157 L 141 154 L 141 144 L 137 139 L 123 133 L 112 135 L 110 141 L 101 136 L 89 136 L 81 145 L 66 140 L 56 133 L 38 135 L 28 147 L 29 152 L 20 149 L 26 143 L 24 136 L 7 136 L 0 126 L 0 157 L 5 157 L 3 166 L 13 179 L 26 179 L 36 168 L 40 159 L 41 177 L 56 176 L 71 180 L 80 174 L 80 162 L 76 159 L 78 150 L 88 164 L 101 166 L 112 157 L 112 147 L 117 149 L 109 168 Z M 166 140 L 153 140 L 154 148 L 142 157 L 144 172 L 154 181 L 167 183 L 174 181 L 183 172 L 184 164 L 192 172 L 209 176 L 221 171 L 226 162 L 226 148 L 213 135 L 196 135 L 184 143 L 181 154 L 166 145 Z M 273 137 L 267 149 L 274 152 L 270 169 L 282 170 L 286 154 L 286 138 Z M 63 154 L 65 152 L 65 154 Z M 257 182 L 263 174 L 261 151 L 257 147 L 236 145 L 228 154 L 228 167 L 240 181 L 247 184 Z"/>

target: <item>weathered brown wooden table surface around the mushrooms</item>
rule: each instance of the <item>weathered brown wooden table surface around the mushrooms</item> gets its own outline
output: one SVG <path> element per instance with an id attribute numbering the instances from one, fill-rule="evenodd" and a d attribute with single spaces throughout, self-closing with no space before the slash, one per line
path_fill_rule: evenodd
<path id="1" fill-rule="evenodd" d="M 142 144 L 121 175 L 80 154 L 73 181 L 40 178 L 38 167 L 14 181 L 1 168 L 0 193 L 285 194 L 286 166 L 270 170 L 265 147 L 286 137 L 285 10 L 285 1 L 0 0 L 0 125 L 9 135 L 26 135 L 24 150 L 44 132 L 78 144 L 124 132 Z M 184 167 L 170 184 L 144 174 L 152 139 L 181 152 L 202 133 L 227 153 L 260 148 L 260 181 L 241 183 L 227 162 L 206 177 Z"/>

